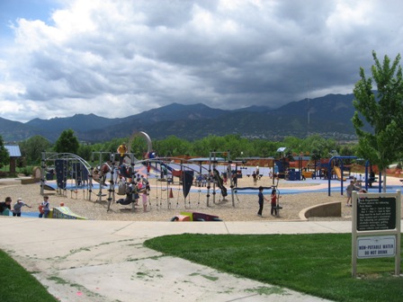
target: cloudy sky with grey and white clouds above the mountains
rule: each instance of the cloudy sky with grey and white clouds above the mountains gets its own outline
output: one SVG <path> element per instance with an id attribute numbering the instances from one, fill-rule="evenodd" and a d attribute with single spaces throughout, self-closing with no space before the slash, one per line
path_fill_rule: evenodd
<path id="1" fill-rule="evenodd" d="M 403 46 L 400 0 L 0 0 L 0 117 L 278 107 L 352 93 Z"/>

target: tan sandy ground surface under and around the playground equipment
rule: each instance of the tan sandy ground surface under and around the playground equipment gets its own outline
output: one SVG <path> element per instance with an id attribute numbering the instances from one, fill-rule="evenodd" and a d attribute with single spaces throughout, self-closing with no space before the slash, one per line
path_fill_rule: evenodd
<path id="1" fill-rule="evenodd" d="M 390 177 L 388 178 L 388 180 Z M 391 178 L 393 179 L 393 178 Z M 399 179 L 395 180 L 399 183 Z M 270 186 L 273 180 L 268 176 L 262 177 L 254 186 L 252 177 L 244 177 L 238 180 L 238 187 L 255 187 L 258 186 Z M 391 182 L 390 182 L 391 183 Z M 166 183 L 157 182 L 157 180 L 150 180 L 151 191 L 148 198 L 147 211 L 144 212 L 141 198 L 139 200 L 139 206 L 135 207 L 132 211 L 131 205 L 122 206 L 118 203 L 112 203 L 111 209 L 107 211 L 108 202 L 107 196 L 103 197 L 103 200 L 97 200 L 95 195 L 99 190 L 94 190 L 91 200 L 88 200 L 88 191 L 78 190 L 66 191 L 65 196 L 58 195 L 56 191 L 45 191 L 49 195 L 49 202 L 51 207 L 58 207 L 61 202 L 65 204 L 69 209 L 75 212 L 79 216 L 83 216 L 88 219 L 95 220 L 131 220 L 131 221 L 169 221 L 175 215 L 180 214 L 181 211 L 195 211 L 206 214 L 216 215 L 225 221 L 251 221 L 251 220 L 300 220 L 299 213 L 302 209 L 309 208 L 321 203 L 327 203 L 331 201 L 342 202 L 342 218 L 310 218 L 310 219 L 351 219 L 351 208 L 345 207 L 345 195 L 341 195 L 340 192 L 332 192 L 332 196 L 327 196 L 327 191 L 323 192 L 309 192 L 309 193 L 297 193 L 297 194 L 285 194 L 280 199 L 282 210 L 280 217 L 273 217 L 270 215 L 270 203 L 265 201 L 263 218 L 256 216 L 258 210 L 257 204 L 257 190 L 252 194 L 235 194 L 234 203 L 232 205 L 231 195 L 228 194 L 226 200 L 223 200 L 219 192 L 215 195 L 215 202 L 213 202 L 212 190 L 210 190 L 209 207 L 207 206 L 207 191 L 202 188 L 201 192 L 191 192 L 190 198 L 188 197 L 184 201 L 182 188 L 178 184 L 172 185 L 172 192 L 174 197 L 168 199 L 168 190 L 166 190 Z M 336 181 L 332 181 L 332 185 L 340 184 Z M 227 186 L 229 187 L 229 185 Z M 315 189 L 315 188 L 327 188 L 327 184 L 317 184 L 308 182 L 288 182 L 280 180 L 278 188 L 281 191 L 282 188 L 300 187 L 300 189 Z M 193 186 L 193 189 L 198 189 Z M 228 193 L 230 190 L 228 190 Z M 107 189 L 103 189 L 103 194 L 108 193 Z M 264 196 L 270 200 L 270 190 L 264 191 Z M 10 196 L 13 199 L 13 203 L 18 197 L 21 197 L 28 205 L 32 206 L 32 209 L 23 207 L 23 212 L 38 212 L 38 206 L 42 200 L 40 196 L 40 183 L 33 184 L 20 184 L 18 182 L 2 182 L 0 184 L 0 199 L 4 200 L 6 196 Z M 115 199 L 121 199 L 124 196 L 115 194 Z M 169 206 L 169 207 L 168 207 Z"/>

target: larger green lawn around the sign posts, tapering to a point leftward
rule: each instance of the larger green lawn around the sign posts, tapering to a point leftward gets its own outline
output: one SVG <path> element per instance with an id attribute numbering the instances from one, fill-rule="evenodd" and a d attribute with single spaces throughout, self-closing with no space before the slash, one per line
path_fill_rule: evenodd
<path id="1" fill-rule="evenodd" d="M 360 259 L 359 278 L 352 278 L 351 234 L 184 234 L 149 239 L 145 245 L 219 271 L 320 298 L 336 301 L 403 299 L 403 277 L 393 276 L 394 258 Z"/>

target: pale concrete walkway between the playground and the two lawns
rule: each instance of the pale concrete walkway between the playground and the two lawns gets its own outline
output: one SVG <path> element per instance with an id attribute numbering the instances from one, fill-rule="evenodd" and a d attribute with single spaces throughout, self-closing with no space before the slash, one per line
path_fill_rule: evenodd
<path id="1" fill-rule="evenodd" d="M 0 218 L 0 248 L 60 301 L 324 301 L 143 247 L 158 235 L 350 233 L 351 222 Z M 185 247 L 184 247 L 185 248 Z"/>

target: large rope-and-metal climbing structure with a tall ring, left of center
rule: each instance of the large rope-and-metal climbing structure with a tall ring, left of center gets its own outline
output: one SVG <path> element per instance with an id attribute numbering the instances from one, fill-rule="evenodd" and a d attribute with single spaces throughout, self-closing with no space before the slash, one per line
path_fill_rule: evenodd
<path id="1" fill-rule="evenodd" d="M 148 209 L 151 209 L 152 203 L 149 196 L 151 190 L 148 177 L 156 178 L 157 185 L 153 190 L 157 191 L 157 209 L 163 207 L 163 202 L 166 201 L 166 207 L 173 207 L 172 200 L 174 198 L 175 178 L 178 178 L 179 184 L 177 188 L 176 208 L 179 207 L 179 191 L 182 189 L 184 195 L 184 208 L 191 208 L 191 200 L 189 192 L 193 186 L 194 176 L 199 173 L 206 179 L 206 202 L 209 206 L 212 196 L 213 203 L 216 203 L 217 191 L 219 191 L 222 199 L 226 199 L 228 191 L 223 184 L 217 164 L 222 158 L 217 157 L 224 152 L 210 152 L 210 157 L 206 159 L 209 167 L 206 168 L 199 163 L 198 169 L 191 164 L 194 161 L 184 158 L 173 157 L 154 157 L 152 156 L 151 139 L 144 132 L 136 132 L 130 137 L 130 141 L 136 137 L 145 138 L 148 144 L 148 152 L 146 158 L 137 159 L 130 152 L 124 154 L 123 163 L 117 164 L 118 154 L 114 152 L 93 152 L 91 163 L 88 164 L 78 155 L 63 153 L 42 153 L 41 164 L 41 179 L 40 179 L 40 194 L 44 195 L 45 190 L 55 191 L 60 196 L 67 197 L 67 192 L 70 191 L 70 197 L 79 191 L 83 191 L 84 200 L 92 200 L 93 195 L 96 197 L 95 202 L 107 202 L 107 211 L 112 207 L 112 204 L 118 203 L 121 205 L 130 205 L 131 209 L 135 210 L 135 205 L 138 204 L 140 194 L 147 195 Z M 130 150 L 130 149 L 129 149 Z M 235 207 L 234 183 L 232 173 L 237 171 L 232 169 L 229 152 L 225 152 L 228 160 L 223 161 L 227 164 L 226 173 L 229 176 L 230 195 L 232 206 Z M 50 183 L 56 176 L 56 183 Z M 198 205 L 201 199 L 201 182 L 194 182 L 199 186 Z M 96 193 L 95 193 L 96 191 Z M 126 198 L 118 199 L 116 195 L 126 195 Z M 146 198 L 145 196 L 143 196 Z M 189 197 L 189 198 L 188 198 Z M 186 200 L 188 198 L 188 200 Z M 221 197 L 219 198 L 219 200 Z M 144 202 L 144 200 L 143 200 Z"/>

